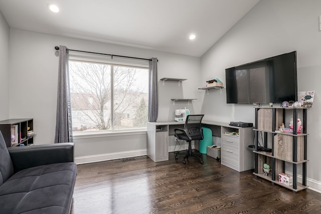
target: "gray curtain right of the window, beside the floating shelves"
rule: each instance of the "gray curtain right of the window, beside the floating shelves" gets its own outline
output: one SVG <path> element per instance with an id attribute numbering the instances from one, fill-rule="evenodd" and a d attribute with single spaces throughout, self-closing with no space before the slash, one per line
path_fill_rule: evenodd
<path id="1" fill-rule="evenodd" d="M 158 77 L 157 58 L 149 61 L 148 122 L 156 122 L 158 117 Z"/>

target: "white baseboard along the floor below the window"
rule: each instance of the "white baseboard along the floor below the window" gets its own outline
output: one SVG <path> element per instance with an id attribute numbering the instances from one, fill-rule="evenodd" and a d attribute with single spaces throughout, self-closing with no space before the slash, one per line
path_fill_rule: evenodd
<path id="1" fill-rule="evenodd" d="M 85 164 L 85 163 L 93 163 L 93 162 L 100 162 L 100 161 L 106 161 L 106 160 L 122 159 L 122 158 L 128 158 L 128 157 L 138 157 L 138 156 L 144 156 L 144 155 L 147 155 L 146 149 L 125 151 L 125 152 L 115 152 L 115 153 L 108 153 L 108 154 L 99 154 L 99 155 L 89 155 L 89 156 L 75 157 L 75 163 Z"/>

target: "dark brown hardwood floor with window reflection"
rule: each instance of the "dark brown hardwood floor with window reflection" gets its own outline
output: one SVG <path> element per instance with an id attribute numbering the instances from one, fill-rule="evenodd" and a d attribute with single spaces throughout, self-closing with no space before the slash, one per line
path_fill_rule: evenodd
<path id="1" fill-rule="evenodd" d="M 297 193 L 204 155 L 154 163 L 147 156 L 78 165 L 72 214 L 321 213 L 321 194 Z"/>

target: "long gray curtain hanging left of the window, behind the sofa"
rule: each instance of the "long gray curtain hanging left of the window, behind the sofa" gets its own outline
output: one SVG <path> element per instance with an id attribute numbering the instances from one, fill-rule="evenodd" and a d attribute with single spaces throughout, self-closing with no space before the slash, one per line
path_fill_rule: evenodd
<path id="1" fill-rule="evenodd" d="M 58 97 L 55 143 L 72 142 L 71 101 L 69 88 L 68 52 L 59 46 Z"/>

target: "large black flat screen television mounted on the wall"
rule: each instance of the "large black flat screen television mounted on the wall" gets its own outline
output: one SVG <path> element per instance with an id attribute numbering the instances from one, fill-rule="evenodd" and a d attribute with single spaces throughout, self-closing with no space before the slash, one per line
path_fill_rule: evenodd
<path id="1" fill-rule="evenodd" d="M 296 51 L 225 69 L 227 103 L 297 101 Z"/>

